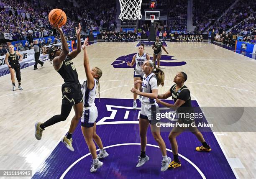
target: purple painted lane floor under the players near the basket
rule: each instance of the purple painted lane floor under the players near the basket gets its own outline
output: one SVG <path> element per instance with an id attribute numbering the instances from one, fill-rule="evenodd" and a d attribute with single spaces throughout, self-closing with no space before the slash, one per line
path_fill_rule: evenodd
<path id="1" fill-rule="evenodd" d="M 138 111 L 130 110 L 126 107 L 132 107 L 132 101 L 130 99 L 100 99 L 95 100 L 98 108 L 98 119 L 101 120 L 104 117 L 110 117 L 113 113 L 111 110 L 118 111 L 113 119 L 106 121 L 134 121 L 136 120 Z M 167 102 L 172 102 L 167 100 Z M 139 102 L 137 102 L 139 103 Z M 192 101 L 193 106 L 197 107 L 196 101 Z M 119 107 L 107 108 L 109 105 L 115 105 Z M 123 108 L 120 108 L 122 106 Z M 110 109 L 110 111 L 108 111 Z M 127 119 L 124 119 L 124 110 L 131 111 Z M 133 111 L 133 112 L 132 112 Z M 122 120 L 121 120 L 122 119 Z M 53 128 L 46 128 L 44 133 L 51 133 Z M 138 124 L 103 124 L 97 125 L 97 134 L 101 137 L 102 143 L 105 147 L 122 144 L 122 143 L 140 143 Z M 161 136 L 166 143 L 166 148 L 171 149 L 169 140 L 169 132 L 161 132 Z M 203 136 L 207 143 L 210 144 L 212 151 L 197 152 L 195 147 L 200 146 L 201 143 L 197 141 L 197 138 L 190 132 L 184 132 L 177 137 L 179 145 L 179 154 L 189 159 L 195 166 L 197 166 L 205 177 L 208 179 L 230 179 L 235 178 L 232 169 L 230 168 L 228 161 L 226 160 L 223 152 L 221 151 L 218 142 L 212 132 L 204 132 Z M 43 136 L 44 137 L 44 136 Z M 61 136 L 60 136 L 61 137 Z M 151 130 L 148 128 L 147 133 L 148 144 L 156 145 L 157 143 L 151 135 Z M 40 141 L 38 141 L 38 145 Z M 50 156 L 46 159 L 40 169 L 34 174 L 33 179 L 45 178 L 45 179 L 58 179 L 64 171 L 77 159 L 89 153 L 88 147 L 84 141 L 84 137 L 81 132 L 80 124 L 77 126 L 73 134 L 73 147 L 74 152 L 69 151 L 62 143 L 59 143 Z M 110 154 L 106 159 L 101 159 L 103 166 L 95 174 L 90 173 L 90 166 L 92 158 L 90 155 L 75 164 L 65 175 L 65 179 L 156 179 L 156 178 L 189 178 L 198 179 L 202 178 L 200 173 L 195 169 L 192 164 L 187 160 L 179 156 L 182 166 L 177 169 L 168 169 L 165 172 L 161 172 L 161 159 L 162 155 L 159 148 L 153 146 L 147 146 L 146 154 L 150 157 L 150 160 L 146 162 L 142 167 L 136 168 L 138 155 L 140 155 L 140 145 L 124 145 L 106 148 Z M 173 159 L 172 153 L 167 151 L 167 155 Z"/>

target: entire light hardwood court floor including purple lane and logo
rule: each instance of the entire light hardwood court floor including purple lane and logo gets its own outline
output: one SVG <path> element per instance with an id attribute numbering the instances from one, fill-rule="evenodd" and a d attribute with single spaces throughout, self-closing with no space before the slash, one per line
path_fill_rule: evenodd
<path id="1" fill-rule="evenodd" d="M 254 107 L 256 105 L 256 62 L 246 56 L 210 43 L 165 42 L 169 54 L 162 53 L 165 73 L 163 94 L 174 84 L 177 72 L 187 73 L 185 82 L 194 107 Z M 151 44 L 146 42 L 146 44 Z M 97 173 L 90 173 L 91 156 L 80 125 L 73 134 L 75 151 L 69 151 L 60 138 L 67 133 L 69 118 L 44 130 L 41 141 L 34 137 L 34 124 L 44 122 L 61 109 L 63 79 L 45 61 L 37 71 L 21 70 L 23 91 L 11 91 L 10 74 L 0 77 L 2 145 L 0 169 L 32 170 L 33 178 L 255 178 L 256 144 L 253 130 L 202 132 L 212 148 L 197 152 L 200 142 L 192 133 L 177 137 L 182 166 L 161 172 L 161 152 L 148 129 L 146 153 L 150 160 L 136 168 L 140 154 L 138 115 L 132 109 L 133 68 L 126 65 L 138 52 L 138 42 L 97 42 L 88 46 L 90 66 L 102 69 L 97 133 L 110 154 Z M 153 56 L 151 46 L 145 52 Z M 85 80 L 83 51 L 72 60 L 79 80 Z M 99 97 L 99 96 L 97 96 Z M 172 103 L 171 99 L 167 102 Z M 209 123 L 204 116 L 205 123 Z M 250 119 L 248 119 L 250 120 Z M 255 124 L 251 124 L 252 126 Z M 227 125 L 228 126 L 228 125 Z M 237 126 L 239 128 L 239 126 Z M 162 131 L 167 155 L 172 156 L 169 131 Z M 8 146 L 8 147 L 5 147 Z"/>

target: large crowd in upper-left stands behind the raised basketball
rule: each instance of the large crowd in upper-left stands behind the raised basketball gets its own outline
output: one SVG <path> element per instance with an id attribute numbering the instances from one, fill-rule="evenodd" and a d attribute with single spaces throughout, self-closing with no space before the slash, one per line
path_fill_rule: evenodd
<path id="1" fill-rule="evenodd" d="M 57 7 L 64 10 L 67 15 L 67 23 L 62 26 L 66 36 L 74 36 L 74 27 L 79 22 L 82 23 L 82 29 L 87 34 L 100 29 L 116 28 L 114 0 L 108 3 L 103 0 L 77 0 L 79 7 L 75 7 L 72 0 L 61 2 L 56 1 Z M 6 41 L 30 39 L 29 43 L 31 43 L 33 38 L 49 36 L 48 30 L 56 33 L 48 20 L 51 9 L 54 7 L 44 0 L 0 0 L 0 35 Z"/>

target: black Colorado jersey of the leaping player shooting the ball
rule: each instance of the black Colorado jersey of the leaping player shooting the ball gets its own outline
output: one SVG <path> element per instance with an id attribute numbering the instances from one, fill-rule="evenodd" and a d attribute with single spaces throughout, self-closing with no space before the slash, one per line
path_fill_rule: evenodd
<path id="1" fill-rule="evenodd" d="M 64 79 L 64 82 L 79 83 L 76 67 L 69 56 L 61 62 L 61 67 L 57 72 Z"/>

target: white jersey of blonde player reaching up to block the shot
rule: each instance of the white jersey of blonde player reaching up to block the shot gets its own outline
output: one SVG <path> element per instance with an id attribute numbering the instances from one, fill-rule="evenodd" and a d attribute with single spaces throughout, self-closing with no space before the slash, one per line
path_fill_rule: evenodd
<path id="1" fill-rule="evenodd" d="M 95 106 L 95 97 L 96 97 L 96 89 L 97 89 L 97 84 L 98 81 L 96 79 L 94 79 L 94 87 L 92 88 L 92 90 L 89 90 L 87 88 L 87 81 L 83 82 L 82 85 L 82 93 L 84 96 L 84 107 L 90 107 L 90 106 Z"/>

